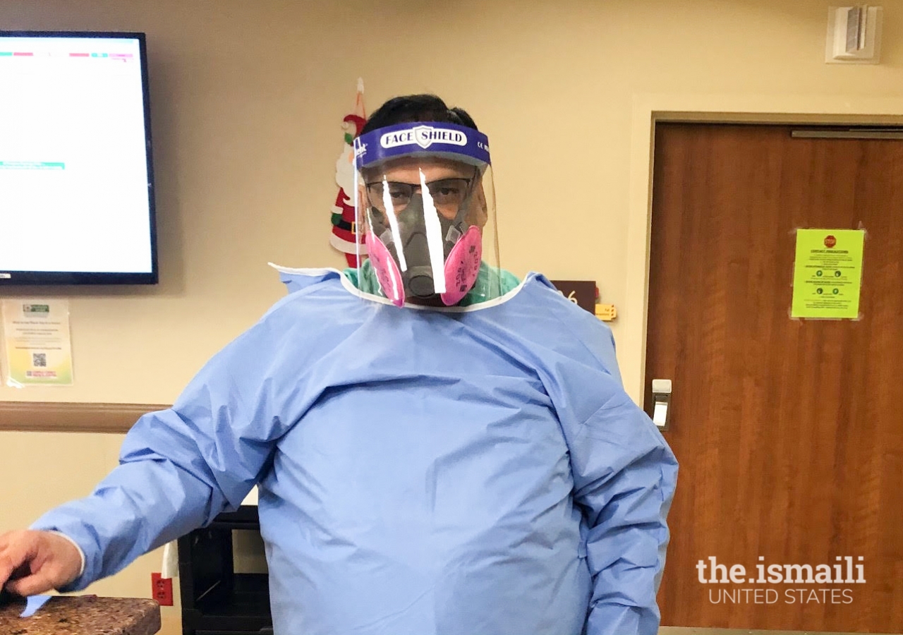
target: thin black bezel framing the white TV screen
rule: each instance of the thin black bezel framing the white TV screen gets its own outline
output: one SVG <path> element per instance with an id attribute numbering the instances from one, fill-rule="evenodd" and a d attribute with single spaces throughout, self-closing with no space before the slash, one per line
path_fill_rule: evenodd
<path id="1" fill-rule="evenodd" d="M 10 285 L 156 285 L 160 282 L 157 264 L 157 223 L 154 201 L 154 153 L 151 143 L 151 97 L 147 72 L 147 45 L 144 33 L 116 31 L 3 31 L 0 37 L 110 38 L 137 40 L 141 55 L 141 89 L 144 101 L 144 147 L 147 156 L 147 202 L 151 238 L 149 272 L 15 271 L 0 269 L 0 287 Z"/>

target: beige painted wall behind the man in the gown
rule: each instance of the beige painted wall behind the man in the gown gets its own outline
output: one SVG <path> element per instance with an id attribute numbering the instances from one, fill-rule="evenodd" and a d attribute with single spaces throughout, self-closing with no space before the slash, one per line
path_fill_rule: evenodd
<path id="1" fill-rule="evenodd" d="M 883 3 L 878 66 L 824 63 L 828 5 L 0 0 L 7 29 L 148 34 L 162 270 L 146 289 L 42 290 L 70 298 L 77 383 L 0 388 L 0 400 L 171 402 L 282 296 L 268 260 L 341 266 L 328 247 L 333 165 L 358 76 L 370 109 L 434 91 L 470 110 L 492 139 L 503 266 L 595 279 L 619 305 L 636 397 L 650 113 L 903 113 L 903 0 Z M 107 467 L 109 443 L 79 442 L 79 483 Z M 42 466 L 5 491 L 0 529 L 70 495 L 70 472 L 47 466 L 71 452 L 66 435 L 0 444 L 0 478 Z M 118 589 L 143 592 L 144 572 Z"/>

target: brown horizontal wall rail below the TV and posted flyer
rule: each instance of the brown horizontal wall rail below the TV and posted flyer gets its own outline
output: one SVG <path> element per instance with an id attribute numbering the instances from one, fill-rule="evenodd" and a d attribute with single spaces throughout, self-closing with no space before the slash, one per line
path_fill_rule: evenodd
<path id="1" fill-rule="evenodd" d="M 0 431 L 126 434 L 138 417 L 169 406 L 0 401 Z"/>

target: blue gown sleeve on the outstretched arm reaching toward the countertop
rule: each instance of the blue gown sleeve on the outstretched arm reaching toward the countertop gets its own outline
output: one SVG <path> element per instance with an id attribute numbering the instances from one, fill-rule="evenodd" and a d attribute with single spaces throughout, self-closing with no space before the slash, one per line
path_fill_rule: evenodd
<path id="1" fill-rule="evenodd" d="M 288 388 L 277 380 L 280 331 L 265 318 L 231 342 L 171 408 L 138 419 L 119 465 L 88 497 L 33 523 L 70 537 L 84 553 L 82 573 L 61 591 L 116 574 L 224 509 L 237 509 L 294 419 L 285 407 Z"/>

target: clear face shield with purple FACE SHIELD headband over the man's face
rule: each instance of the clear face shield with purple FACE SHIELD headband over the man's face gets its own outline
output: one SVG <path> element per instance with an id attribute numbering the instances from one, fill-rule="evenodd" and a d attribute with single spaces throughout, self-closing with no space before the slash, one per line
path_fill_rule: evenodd
<path id="1" fill-rule="evenodd" d="M 501 294 L 486 135 L 463 126 L 387 126 L 355 140 L 356 217 L 375 277 L 396 306 L 452 306 Z"/>

